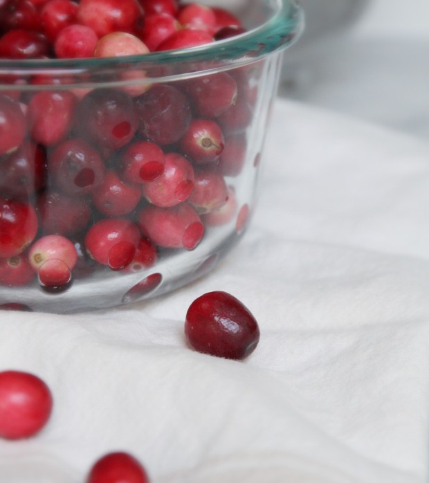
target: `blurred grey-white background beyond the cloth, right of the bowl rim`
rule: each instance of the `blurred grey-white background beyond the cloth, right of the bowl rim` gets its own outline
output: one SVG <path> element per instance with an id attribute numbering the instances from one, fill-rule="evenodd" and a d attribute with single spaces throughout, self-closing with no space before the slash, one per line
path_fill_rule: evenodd
<path id="1" fill-rule="evenodd" d="M 300 0 L 280 94 L 429 140 L 429 0 Z"/>

